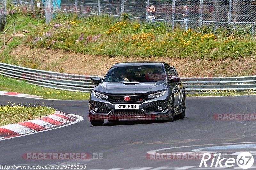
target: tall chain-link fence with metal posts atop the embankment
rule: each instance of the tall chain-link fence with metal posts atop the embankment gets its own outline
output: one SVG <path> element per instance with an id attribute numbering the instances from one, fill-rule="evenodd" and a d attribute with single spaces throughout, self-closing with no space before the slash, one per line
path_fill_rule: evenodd
<path id="1" fill-rule="evenodd" d="M 23 5 L 33 0 L 12 0 Z M 36 0 L 34 0 L 36 1 Z M 155 21 L 169 22 L 172 28 L 184 27 L 184 5 L 188 6 L 188 28 L 207 26 L 212 31 L 229 29 L 254 34 L 256 25 L 256 0 L 40 0 L 41 5 L 51 3 L 53 9 L 86 14 L 120 16 L 128 13 L 131 19 L 149 20 L 149 7 L 153 5 Z M 16 2 L 17 3 L 17 2 Z M 54 5 L 55 4 L 55 5 Z M 52 11 L 52 10 L 51 10 Z M 152 21 L 152 20 L 150 20 Z"/>

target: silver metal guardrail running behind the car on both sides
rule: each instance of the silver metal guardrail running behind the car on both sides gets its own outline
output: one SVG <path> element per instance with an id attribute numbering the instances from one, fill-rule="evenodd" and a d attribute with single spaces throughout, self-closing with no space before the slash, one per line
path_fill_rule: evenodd
<path id="1" fill-rule="evenodd" d="M 42 87 L 90 92 L 95 84 L 91 78 L 103 76 L 67 74 L 36 70 L 11 64 L 0 63 L 0 74 L 11 78 L 25 80 L 32 85 Z M 256 76 L 243 77 L 204 77 L 181 78 L 187 93 L 233 91 L 250 92 L 256 90 Z"/>

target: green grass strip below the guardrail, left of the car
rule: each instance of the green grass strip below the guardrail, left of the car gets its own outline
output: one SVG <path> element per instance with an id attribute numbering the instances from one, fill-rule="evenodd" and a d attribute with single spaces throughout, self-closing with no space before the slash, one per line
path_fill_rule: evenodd
<path id="1" fill-rule="evenodd" d="M 72 92 L 30 85 L 24 81 L 0 76 L 0 90 L 42 96 L 45 99 L 88 100 L 89 93 Z"/>

